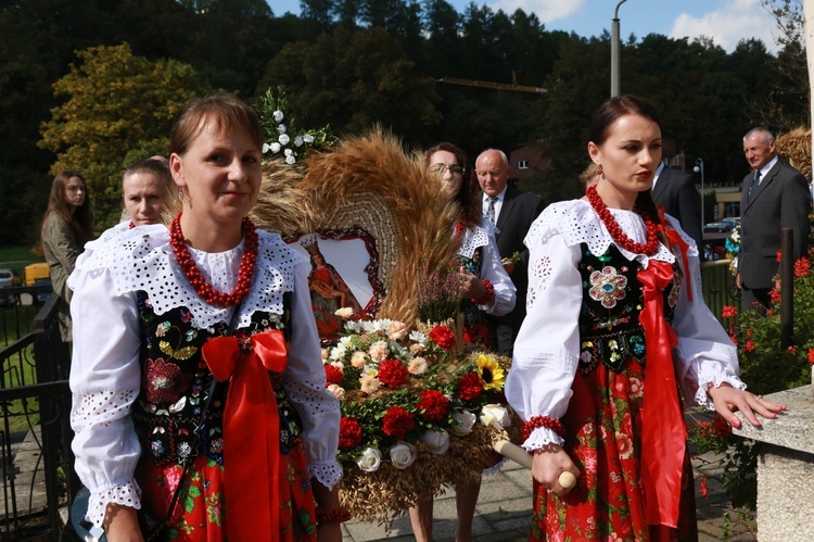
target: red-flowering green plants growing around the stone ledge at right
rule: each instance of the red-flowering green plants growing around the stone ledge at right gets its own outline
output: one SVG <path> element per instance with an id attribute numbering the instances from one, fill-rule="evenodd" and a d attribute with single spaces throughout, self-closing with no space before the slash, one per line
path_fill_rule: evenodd
<path id="1" fill-rule="evenodd" d="M 814 365 L 814 274 L 809 256 L 794 264 L 793 344 L 783 349 L 780 342 L 780 291 L 771 292 L 772 308 L 765 316 L 756 311 L 739 311 L 724 305 L 722 317 L 733 342 L 738 346 L 740 378 L 749 391 L 758 394 L 775 393 L 811 383 Z M 756 502 L 755 469 L 761 443 L 733 436 L 727 424 L 717 419 L 702 420 L 691 431 L 691 441 L 699 454 L 715 452 L 721 456 L 723 482 L 735 506 Z"/>

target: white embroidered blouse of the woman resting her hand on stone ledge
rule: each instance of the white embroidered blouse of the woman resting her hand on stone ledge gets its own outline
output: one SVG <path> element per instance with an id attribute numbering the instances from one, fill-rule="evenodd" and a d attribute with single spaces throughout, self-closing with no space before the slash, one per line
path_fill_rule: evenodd
<path id="1" fill-rule="evenodd" d="M 646 242 L 645 223 L 637 213 L 615 209 L 611 213 L 629 238 Z M 683 272 L 685 280 L 691 280 L 690 285 L 683 285 L 672 323 L 678 337 L 676 378 L 685 398 L 712 407 L 708 385 L 728 382 L 736 389 L 746 386 L 737 376 L 735 345 L 703 302 L 698 249 L 678 220 L 671 216 L 667 219 L 689 244 L 689 269 Z M 506 396 L 522 419 L 539 415 L 560 418 L 568 409 L 578 365 L 578 317 L 584 294 L 577 268 L 580 245 L 586 243 L 592 253 L 602 254 L 614 241 L 587 201 L 572 200 L 543 211 L 524 242 L 530 250 L 527 314 L 514 343 Z M 636 260 L 645 267 L 651 259 L 669 263 L 676 260 L 663 244 L 649 257 L 616 247 L 629 261 Z M 678 263 L 683 266 L 681 257 Z M 688 300 L 687 286 L 692 301 Z M 531 451 L 551 442 L 563 441 L 552 430 L 537 428 L 523 448 Z"/>

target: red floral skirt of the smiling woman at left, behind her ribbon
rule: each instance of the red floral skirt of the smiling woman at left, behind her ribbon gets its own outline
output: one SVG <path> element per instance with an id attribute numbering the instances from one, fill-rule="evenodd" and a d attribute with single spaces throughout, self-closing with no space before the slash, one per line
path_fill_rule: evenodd
<path id="1" fill-rule="evenodd" d="M 280 534 L 272 540 L 284 542 L 316 541 L 317 524 L 310 476 L 302 446 L 280 454 Z M 169 507 L 183 468 L 160 467 L 141 462 L 137 480 L 142 489 L 142 505 L 156 519 L 163 519 Z M 165 540 L 179 542 L 220 542 L 226 538 L 224 467 L 199 456 L 183 480 L 176 514 L 166 529 Z M 258 480 L 259 481 L 259 480 Z"/>

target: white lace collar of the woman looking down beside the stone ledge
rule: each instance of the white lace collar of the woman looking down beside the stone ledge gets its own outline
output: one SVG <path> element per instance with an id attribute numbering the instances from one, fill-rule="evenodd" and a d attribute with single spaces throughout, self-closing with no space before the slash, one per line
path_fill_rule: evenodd
<path id="1" fill-rule="evenodd" d="M 638 243 L 647 242 L 645 222 L 638 213 L 621 209 L 610 211 L 625 235 Z M 671 224 L 675 223 L 671 220 Z M 594 254 L 603 254 L 611 244 L 615 244 L 590 203 L 583 200 L 561 201 L 548 205 L 530 228 L 525 237 L 525 245 L 531 247 L 535 239 L 545 242 L 555 235 L 561 235 L 568 247 L 584 242 Z M 690 241 L 686 234 L 683 238 Z M 675 254 L 661 243 L 658 252 L 652 256 L 634 254 L 619 245 L 616 248 L 627 260 L 637 260 L 645 267 L 650 260 L 671 264 L 675 262 Z M 698 255 L 698 249 L 692 244 L 690 244 L 689 254 Z"/>

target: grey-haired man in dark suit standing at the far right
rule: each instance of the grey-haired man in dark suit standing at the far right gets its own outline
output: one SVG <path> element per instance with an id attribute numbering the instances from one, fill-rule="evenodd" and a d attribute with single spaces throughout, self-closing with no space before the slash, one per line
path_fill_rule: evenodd
<path id="1" fill-rule="evenodd" d="M 794 261 L 806 253 L 811 228 L 809 184 L 803 174 L 777 159 L 775 137 L 765 128 L 753 128 L 743 136 L 743 154 L 752 172 L 743 178 L 740 189 L 736 281 L 743 292 L 743 308 L 765 313 L 778 272 L 780 230 L 794 230 Z"/>

